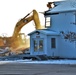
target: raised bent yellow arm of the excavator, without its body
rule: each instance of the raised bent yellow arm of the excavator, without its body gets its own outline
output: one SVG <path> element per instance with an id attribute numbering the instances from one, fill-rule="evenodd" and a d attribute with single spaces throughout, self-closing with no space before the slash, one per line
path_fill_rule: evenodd
<path id="1" fill-rule="evenodd" d="M 37 11 L 33 10 L 32 12 L 33 12 L 32 16 L 29 16 L 31 14 L 31 12 L 30 12 L 23 19 L 21 19 L 19 22 L 17 22 L 15 29 L 14 29 L 13 37 L 17 37 L 21 28 L 32 20 L 35 23 L 36 29 L 42 29 Z"/>

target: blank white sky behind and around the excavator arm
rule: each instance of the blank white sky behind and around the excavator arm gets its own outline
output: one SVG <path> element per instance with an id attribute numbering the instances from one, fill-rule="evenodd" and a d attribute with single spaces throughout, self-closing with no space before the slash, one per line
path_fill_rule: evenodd
<path id="1" fill-rule="evenodd" d="M 0 0 L 0 36 L 12 36 L 16 23 L 33 9 L 37 12 L 48 10 L 46 4 L 60 0 Z M 44 25 L 44 16 L 39 13 L 40 22 Z M 21 32 L 28 34 L 35 30 L 34 23 L 25 25 Z"/>

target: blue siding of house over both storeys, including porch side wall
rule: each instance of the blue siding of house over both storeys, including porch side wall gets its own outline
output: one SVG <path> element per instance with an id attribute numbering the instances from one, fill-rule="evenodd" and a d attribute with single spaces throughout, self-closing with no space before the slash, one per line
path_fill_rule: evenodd
<path id="1" fill-rule="evenodd" d="M 47 16 L 47 15 L 46 15 Z M 76 33 L 76 14 L 75 12 L 63 12 L 55 15 L 49 15 L 51 17 L 51 27 L 50 30 L 61 32 L 65 34 L 68 32 Z M 48 44 L 48 55 L 50 56 L 59 56 L 60 58 L 76 58 L 76 43 L 75 41 L 71 42 L 69 39 L 64 39 L 64 35 L 60 33 L 60 36 L 49 36 L 48 41 L 51 37 L 55 37 L 56 40 L 56 49 L 50 48 L 50 43 Z"/>

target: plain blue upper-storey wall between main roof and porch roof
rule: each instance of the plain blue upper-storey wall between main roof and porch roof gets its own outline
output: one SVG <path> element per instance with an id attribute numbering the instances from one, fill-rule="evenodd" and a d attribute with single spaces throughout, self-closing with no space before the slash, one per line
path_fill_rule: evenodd
<path id="1" fill-rule="evenodd" d="M 73 31 L 76 32 L 76 16 L 75 12 L 64 12 L 55 15 L 50 15 L 51 17 L 51 30 L 55 31 Z"/>

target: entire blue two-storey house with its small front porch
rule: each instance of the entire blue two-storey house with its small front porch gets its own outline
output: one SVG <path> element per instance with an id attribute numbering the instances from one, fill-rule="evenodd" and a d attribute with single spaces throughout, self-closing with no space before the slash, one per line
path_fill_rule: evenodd
<path id="1" fill-rule="evenodd" d="M 45 27 L 30 33 L 31 55 L 76 58 L 76 1 L 54 2 L 44 13 Z"/>

